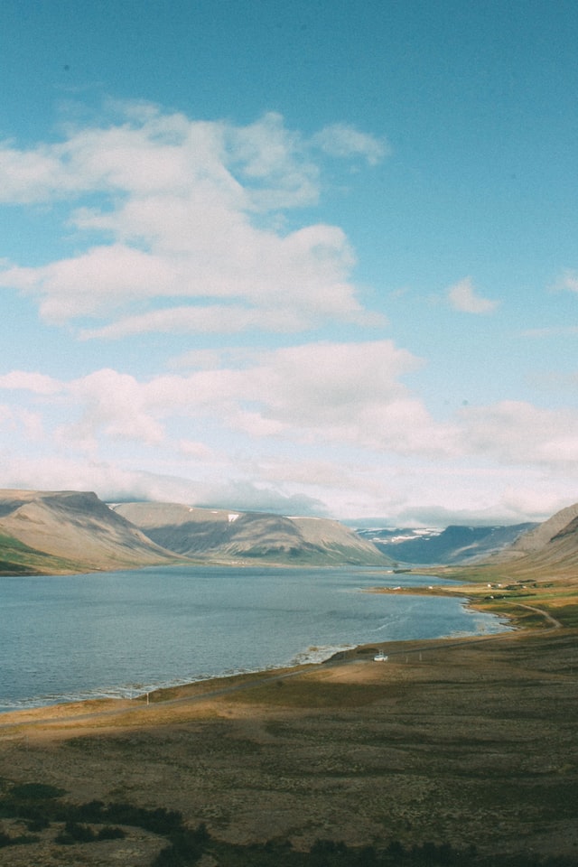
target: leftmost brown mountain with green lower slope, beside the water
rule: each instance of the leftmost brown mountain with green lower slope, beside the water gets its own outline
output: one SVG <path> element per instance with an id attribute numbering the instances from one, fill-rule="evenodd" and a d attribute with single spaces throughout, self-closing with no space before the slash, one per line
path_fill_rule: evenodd
<path id="1" fill-rule="evenodd" d="M 174 563 L 85 491 L 0 489 L 0 572 L 79 573 Z"/>

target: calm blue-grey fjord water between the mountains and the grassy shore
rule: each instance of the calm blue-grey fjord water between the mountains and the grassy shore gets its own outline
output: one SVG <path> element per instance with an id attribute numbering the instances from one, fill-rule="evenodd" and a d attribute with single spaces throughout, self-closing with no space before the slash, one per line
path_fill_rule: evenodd
<path id="1" fill-rule="evenodd" d="M 0 710 L 283 667 L 370 641 L 497 632 L 456 599 L 364 593 L 443 583 L 371 569 L 164 567 L 0 578 Z"/>

